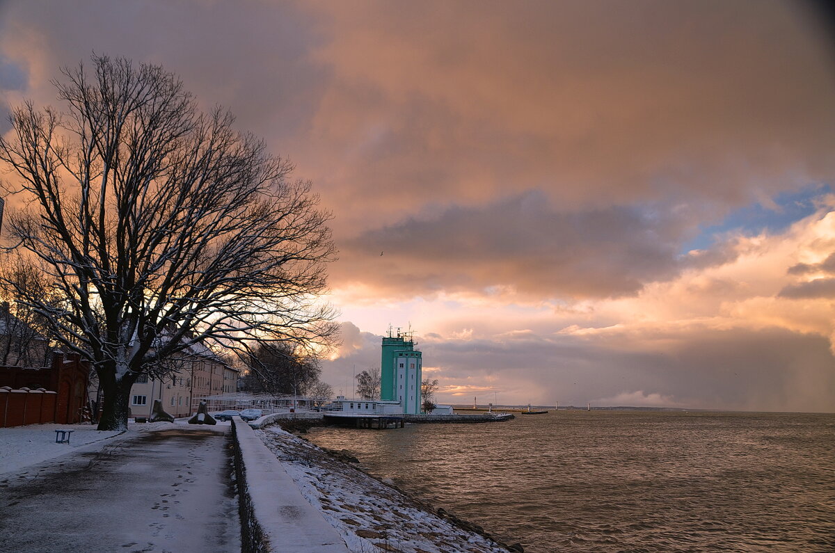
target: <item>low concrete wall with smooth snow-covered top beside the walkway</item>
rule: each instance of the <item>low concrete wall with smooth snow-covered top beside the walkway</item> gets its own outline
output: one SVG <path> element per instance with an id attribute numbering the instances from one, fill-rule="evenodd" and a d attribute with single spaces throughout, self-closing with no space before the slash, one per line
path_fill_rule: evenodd
<path id="1" fill-rule="evenodd" d="M 261 442 L 250 424 L 234 417 L 232 434 L 242 550 L 347 553 L 342 536 L 301 495 L 276 454 Z"/>

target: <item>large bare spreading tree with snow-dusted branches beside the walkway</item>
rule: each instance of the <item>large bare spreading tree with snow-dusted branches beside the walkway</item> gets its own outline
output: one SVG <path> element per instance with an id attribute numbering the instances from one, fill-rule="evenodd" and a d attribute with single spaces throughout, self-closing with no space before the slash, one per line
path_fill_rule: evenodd
<path id="1" fill-rule="evenodd" d="M 92 61 L 53 83 L 65 113 L 13 109 L 0 165 L 28 208 L 7 209 L 4 232 L 63 292 L 18 300 L 98 373 L 99 429 L 123 429 L 136 378 L 191 344 L 326 345 L 335 250 L 310 182 L 231 114 L 200 112 L 158 66 Z"/>

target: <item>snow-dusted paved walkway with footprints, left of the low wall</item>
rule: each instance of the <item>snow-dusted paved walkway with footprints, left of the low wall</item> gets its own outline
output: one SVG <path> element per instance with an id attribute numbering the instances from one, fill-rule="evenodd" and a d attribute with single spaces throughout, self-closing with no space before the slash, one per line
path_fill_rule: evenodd
<path id="1" fill-rule="evenodd" d="M 0 475 L 0 551 L 239 551 L 229 430 L 172 427 Z"/>

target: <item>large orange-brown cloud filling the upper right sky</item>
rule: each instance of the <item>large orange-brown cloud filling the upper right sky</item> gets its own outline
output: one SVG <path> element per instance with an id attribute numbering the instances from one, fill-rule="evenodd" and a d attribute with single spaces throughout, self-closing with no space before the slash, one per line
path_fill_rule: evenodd
<path id="1" fill-rule="evenodd" d="M 387 224 L 530 189 L 572 208 L 706 200 L 721 216 L 832 175 L 830 58 L 787 4 L 318 13 L 333 78 L 315 129 L 352 183 L 352 227 L 372 222 L 361 203 Z"/>

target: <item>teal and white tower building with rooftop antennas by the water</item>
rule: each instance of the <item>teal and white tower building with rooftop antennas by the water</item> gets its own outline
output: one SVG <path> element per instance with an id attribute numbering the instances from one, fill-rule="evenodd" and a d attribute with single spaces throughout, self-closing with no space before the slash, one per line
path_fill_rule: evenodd
<path id="1" fill-rule="evenodd" d="M 380 399 L 399 401 L 403 413 L 420 413 L 421 363 L 412 332 L 389 328 L 382 337 Z"/>

